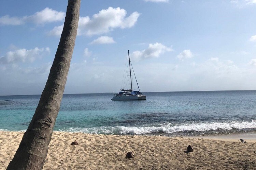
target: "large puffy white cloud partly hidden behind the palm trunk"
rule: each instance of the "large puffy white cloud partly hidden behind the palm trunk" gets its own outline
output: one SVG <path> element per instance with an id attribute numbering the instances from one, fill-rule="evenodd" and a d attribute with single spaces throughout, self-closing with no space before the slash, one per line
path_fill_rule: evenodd
<path id="1" fill-rule="evenodd" d="M 90 19 L 89 16 L 80 17 L 77 35 L 100 35 L 113 31 L 115 28 L 131 28 L 137 22 L 138 17 L 141 15 L 138 12 L 133 12 L 130 16 L 126 17 L 127 12 L 120 7 L 109 7 L 106 10 L 99 11 L 98 14 L 94 14 Z M 60 35 L 61 33 L 55 27 L 50 31 L 51 35 Z"/>

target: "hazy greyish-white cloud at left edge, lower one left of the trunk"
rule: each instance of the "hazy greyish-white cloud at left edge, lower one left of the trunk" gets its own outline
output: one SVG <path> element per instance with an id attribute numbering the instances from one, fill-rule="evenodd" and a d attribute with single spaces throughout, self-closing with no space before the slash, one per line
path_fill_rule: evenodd
<path id="1" fill-rule="evenodd" d="M 46 48 L 37 48 L 26 50 L 18 49 L 15 51 L 9 51 L 5 56 L 0 57 L 0 64 L 14 64 L 19 62 L 33 62 L 36 58 L 42 57 L 45 53 L 49 54 L 50 49 Z"/>

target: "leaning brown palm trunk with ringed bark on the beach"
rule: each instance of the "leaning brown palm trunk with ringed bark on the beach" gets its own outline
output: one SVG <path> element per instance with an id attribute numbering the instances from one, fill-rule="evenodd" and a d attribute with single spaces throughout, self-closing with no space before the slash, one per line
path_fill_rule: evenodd
<path id="1" fill-rule="evenodd" d="M 7 169 L 43 169 L 75 45 L 80 0 L 69 0 L 63 31 L 35 114 Z"/>

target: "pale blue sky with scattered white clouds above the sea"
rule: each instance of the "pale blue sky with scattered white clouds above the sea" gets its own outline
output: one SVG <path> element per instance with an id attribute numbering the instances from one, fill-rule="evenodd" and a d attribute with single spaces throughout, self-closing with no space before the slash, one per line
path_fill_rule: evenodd
<path id="1" fill-rule="evenodd" d="M 66 8 L 2 1 L 0 96 L 42 93 Z M 128 50 L 141 92 L 256 90 L 255 18 L 256 0 L 81 0 L 64 93 L 119 92 Z"/>

